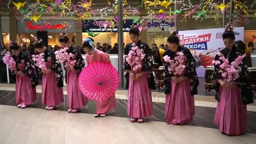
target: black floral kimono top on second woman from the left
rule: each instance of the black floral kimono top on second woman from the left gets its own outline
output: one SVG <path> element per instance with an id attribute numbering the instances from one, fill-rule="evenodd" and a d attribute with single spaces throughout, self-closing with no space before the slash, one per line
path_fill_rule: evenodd
<path id="1" fill-rule="evenodd" d="M 61 64 L 58 63 L 58 61 L 56 60 L 54 52 L 49 50 L 48 48 L 46 48 L 44 54 L 45 54 L 44 55 L 45 62 L 48 62 L 48 61 L 52 62 L 52 67 L 50 69 L 56 73 L 56 81 L 57 81 L 58 87 L 63 87 L 64 86 L 63 80 L 62 80 L 63 72 L 62 72 Z"/>

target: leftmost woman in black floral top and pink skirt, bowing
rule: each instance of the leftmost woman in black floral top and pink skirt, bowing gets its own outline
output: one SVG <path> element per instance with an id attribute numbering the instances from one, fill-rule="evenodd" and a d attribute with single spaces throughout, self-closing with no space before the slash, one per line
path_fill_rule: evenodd
<path id="1" fill-rule="evenodd" d="M 24 109 L 37 99 L 36 86 L 38 84 L 32 60 L 23 53 L 16 41 L 11 41 L 10 50 L 16 62 L 16 103 L 18 108 Z"/>

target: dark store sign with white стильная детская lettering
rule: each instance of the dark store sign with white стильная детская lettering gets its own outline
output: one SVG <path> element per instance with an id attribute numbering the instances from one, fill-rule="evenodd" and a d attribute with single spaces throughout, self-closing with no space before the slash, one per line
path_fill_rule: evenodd
<path id="1" fill-rule="evenodd" d="M 99 23 L 103 23 L 105 20 L 98 20 Z M 88 30 L 89 32 L 117 32 L 118 27 L 117 23 L 115 22 L 113 28 L 104 28 L 103 25 L 97 25 L 95 24 L 94 20 L 83 20 L 83 32 L 86 32 Z M 129 32 L 131 26 L 133 25 L 132 19 L 126 19 L 123 23 L 123 32 Z"/>

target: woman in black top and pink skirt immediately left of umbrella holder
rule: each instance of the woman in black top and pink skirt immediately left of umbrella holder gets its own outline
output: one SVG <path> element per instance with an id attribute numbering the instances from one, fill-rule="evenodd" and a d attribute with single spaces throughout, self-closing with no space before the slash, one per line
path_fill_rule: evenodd
<path id="1" fill-rule="evenodd" d="M 62 48 L 68 48 L 66 51 L 67 53 L 73 54 L 73 57 L 70 60 L 76 61 L 74 67 L 65 67 L 67 71 L 67 101 L 69 106 L 69 110 L 67 112 L 80 112 L 81 108 L 87 104 L 87 99 L 82 95 L 78 88 L 78 77 L 85 66 L 85 62 L 80 51 L 71 46 L 66 33 L 62 32 L 60 34 L 59 42 Z"/>

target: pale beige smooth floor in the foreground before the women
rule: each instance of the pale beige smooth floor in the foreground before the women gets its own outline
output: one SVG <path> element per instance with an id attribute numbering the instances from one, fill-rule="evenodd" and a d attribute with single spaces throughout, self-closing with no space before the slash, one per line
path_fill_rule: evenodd
<path id="1" fill-rule="evenodd" d="M 0 105 L 0 144 L 256 144 L 256 134 Z"/>

